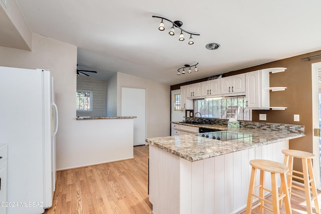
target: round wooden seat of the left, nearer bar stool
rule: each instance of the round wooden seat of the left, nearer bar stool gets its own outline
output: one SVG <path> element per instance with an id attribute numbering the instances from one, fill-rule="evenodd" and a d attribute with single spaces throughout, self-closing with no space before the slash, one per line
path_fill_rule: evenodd
<path id="1" fill-rule="evenodd" d="M 286 165 L 271 160 L 255 159 L 250 160 L 250 164 L 257 169 L 273 173 L 286 173 L 289 170 Z"/>

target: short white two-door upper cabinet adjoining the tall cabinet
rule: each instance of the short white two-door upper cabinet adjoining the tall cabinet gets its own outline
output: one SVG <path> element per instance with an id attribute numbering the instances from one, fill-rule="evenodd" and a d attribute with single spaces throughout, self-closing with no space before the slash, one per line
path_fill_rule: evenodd
<path id="1" fill-rule="evenodd" d="M 245 92 L 245 74 L 224 77 L 220 79 L 221 94 L 241 95 Z"/>

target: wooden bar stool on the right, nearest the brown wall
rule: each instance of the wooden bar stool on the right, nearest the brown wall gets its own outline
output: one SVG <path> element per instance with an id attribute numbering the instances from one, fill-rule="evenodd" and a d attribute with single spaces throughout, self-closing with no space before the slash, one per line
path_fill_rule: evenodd
<path id="1" fill-rule="evenodd" d="M 284 149 L 282 150 L 282 153 L 285 155 L 284 164 L 289 167 L 289 171 L 288 173 L 286 173 L 289 194 L 290 195 L 293 194 L 297 197 L 300 197 L 306 200 L 307 213 L 312 213 L 311 202 L 314 200 L 315 211 L 316 213 L 320 213 L 319 203 L 317 200 L 317 191 L 316 191 L 316 185 L 314 180 L 314 173 L 312 168 L 312 159 L 315 157 L 315 155 L 309 152 L 292 150 L 292 149 Z M 293 157 L 301 158 L 303 172 L 293 170 Z M 293 175 L 293 172 L 296 174 L 303 175 L 303 178 Z M 292 185 L 292 178 L 303 180 L 304 188 Z M 312 189 L 312 197 L 310 192 L 310 184 Z M 292 188 L 303 190 L 305 192 L 305 195 L 302 196 L 302 195 L 293 193 Z"/>

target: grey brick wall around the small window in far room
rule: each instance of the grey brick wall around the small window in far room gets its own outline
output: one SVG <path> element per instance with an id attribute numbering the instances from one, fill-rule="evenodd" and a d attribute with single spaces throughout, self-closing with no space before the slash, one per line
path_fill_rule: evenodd
<path id="1" fill-rule="evenodd" d="M 106 81 L 85 76 L 77 76 L 77 90 L 91 90 L 93 96 L 92 111 L 78 111 L 77 116 L 106 116 Z"/>

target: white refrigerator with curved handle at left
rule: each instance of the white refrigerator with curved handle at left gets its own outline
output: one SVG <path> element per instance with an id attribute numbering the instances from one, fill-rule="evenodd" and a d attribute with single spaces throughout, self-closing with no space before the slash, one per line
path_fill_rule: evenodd
<path id="1" fill-rule="evenodd" d="M 0 144 L 8 144 L 7 213 L 52 206 L 58 111 L 50 71 L 0 67 Z"/>

